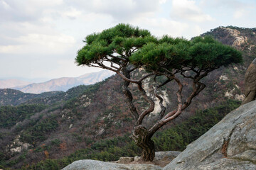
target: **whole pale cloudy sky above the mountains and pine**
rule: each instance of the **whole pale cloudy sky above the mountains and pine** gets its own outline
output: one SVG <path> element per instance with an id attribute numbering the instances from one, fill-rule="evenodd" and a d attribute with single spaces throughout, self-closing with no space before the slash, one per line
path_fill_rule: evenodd
<path id="1" fill-rule="evenodd" d="M 256 0 L 0 0 L 0 79 L 78 77 L 86 35 L 130 23 L 161 37 L 256 27 Z"/>

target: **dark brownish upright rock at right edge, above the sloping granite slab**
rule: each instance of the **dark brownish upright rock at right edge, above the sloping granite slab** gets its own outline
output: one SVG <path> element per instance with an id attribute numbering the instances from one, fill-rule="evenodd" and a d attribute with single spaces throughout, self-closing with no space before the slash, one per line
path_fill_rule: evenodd
<path id="1" fill-rule="evenodd" d="M 252 61 L 245 73 L 245 99 L 242 104 L 256 99 L 256 59 Z"/>

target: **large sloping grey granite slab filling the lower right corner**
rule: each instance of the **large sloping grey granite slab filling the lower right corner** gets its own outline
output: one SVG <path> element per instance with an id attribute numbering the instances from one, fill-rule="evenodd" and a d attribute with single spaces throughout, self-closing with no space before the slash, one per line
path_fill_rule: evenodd
<path id="1" fill-rule="evenodd" d="M 256 101 L 240 106 L 163 170 L 256 169 Z"/>

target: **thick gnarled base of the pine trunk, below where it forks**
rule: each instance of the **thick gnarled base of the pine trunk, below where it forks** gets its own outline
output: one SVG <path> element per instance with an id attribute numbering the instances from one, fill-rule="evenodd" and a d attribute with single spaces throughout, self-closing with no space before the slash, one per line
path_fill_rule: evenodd
<path id="1" fill-rule="evenodd" d="M 132 132 L 132 139 L 138 147 L 142 148 L 141 160 L 145 162 L 153 161 L 155 157 L 154 142 L 151 140 L 148 130 L 139 125 Z"/>

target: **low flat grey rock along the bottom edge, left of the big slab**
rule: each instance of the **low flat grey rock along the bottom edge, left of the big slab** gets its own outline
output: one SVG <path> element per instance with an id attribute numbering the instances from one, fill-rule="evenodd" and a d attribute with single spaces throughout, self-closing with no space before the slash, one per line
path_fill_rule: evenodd
<path id="1" fill-rule="evenodd" d="M 161 170 L 160 166 L 151 164 L 117 164 L 90 159 L 79 160 L 66 166 L 63 170 Z"/>

